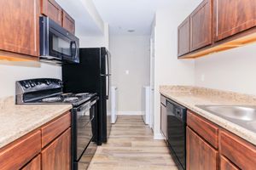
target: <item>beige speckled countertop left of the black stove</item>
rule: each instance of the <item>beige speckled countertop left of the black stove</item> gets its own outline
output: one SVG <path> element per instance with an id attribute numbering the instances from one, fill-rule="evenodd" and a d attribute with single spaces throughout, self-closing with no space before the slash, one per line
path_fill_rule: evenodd
<path id="1" fill-rule="evenodd" d="M 0 148 L 72 109 L 72 105 L 15 105 L 0 99 Z"/>

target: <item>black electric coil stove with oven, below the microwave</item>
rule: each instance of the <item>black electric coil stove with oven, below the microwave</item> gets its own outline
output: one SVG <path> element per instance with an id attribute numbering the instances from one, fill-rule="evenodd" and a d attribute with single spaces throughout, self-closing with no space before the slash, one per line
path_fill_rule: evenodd
<path id="1" fill-rule="evenodd" d="M 96 94 L 63 94 L 58 79 L 41 78 L 16 82 L 17 105 L 73 105 L 72 109 L 72 169 L 86 169 L 96 152 Z"/>

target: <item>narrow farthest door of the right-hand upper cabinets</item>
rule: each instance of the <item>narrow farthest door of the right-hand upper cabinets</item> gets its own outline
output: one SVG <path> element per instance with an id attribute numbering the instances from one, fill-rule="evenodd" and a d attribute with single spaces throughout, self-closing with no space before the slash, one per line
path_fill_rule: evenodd
<path id="1" fill-rule="evenodd" d="M 177 55 L 190 52 L 190 21 L 189 18 L 177 27 Z"/>

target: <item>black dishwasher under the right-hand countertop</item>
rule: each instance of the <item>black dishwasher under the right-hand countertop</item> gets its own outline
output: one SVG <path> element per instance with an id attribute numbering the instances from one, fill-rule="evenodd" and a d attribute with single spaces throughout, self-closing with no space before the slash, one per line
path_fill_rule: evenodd
<path id="1" fill-rule="evenodd" d="M 186 169 L 187 109 L 167 99 L 167 144 L 178 169 Z"/>

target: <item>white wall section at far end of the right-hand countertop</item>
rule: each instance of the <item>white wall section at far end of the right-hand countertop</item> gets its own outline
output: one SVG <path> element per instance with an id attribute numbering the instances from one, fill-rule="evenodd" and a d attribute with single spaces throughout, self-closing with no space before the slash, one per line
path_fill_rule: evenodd
<path id="1" fill-rule="evenodd" d="M 193 9 L 193 7 L 191 7 Z M 177 59 L 177 26 L 189 10 L 158 10 L 155 17 L 154 138 L 160 135 L 160 85 L 194 85 L 195 62 Z"/>

